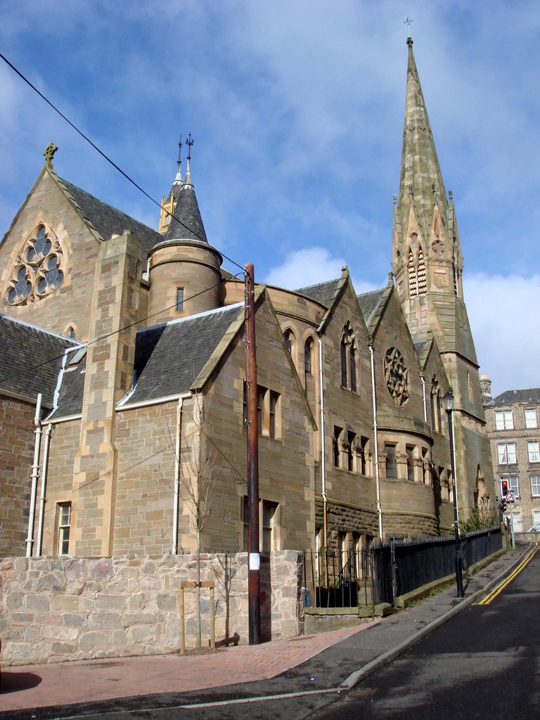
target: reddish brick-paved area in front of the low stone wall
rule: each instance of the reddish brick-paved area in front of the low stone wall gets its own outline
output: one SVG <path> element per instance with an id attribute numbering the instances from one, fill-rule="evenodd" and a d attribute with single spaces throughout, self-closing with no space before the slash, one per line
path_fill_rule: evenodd
<path id="1" fill-rule="evenodd" d="M 0 712 L 267 680 L 377 622 L 253 647 L 222 648 L 201 655 L 153 655 L 9 667 L 2 671 Z"/>

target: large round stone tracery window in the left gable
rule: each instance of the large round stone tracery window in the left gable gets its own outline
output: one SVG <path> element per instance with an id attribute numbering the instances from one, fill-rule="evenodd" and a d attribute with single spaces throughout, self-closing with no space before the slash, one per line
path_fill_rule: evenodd
<path id="1" fill-rule="evenodd" d="M 5 299 L 9 305 L 29 305 L 60 287 L 65 263 L 60 243 L 45 225 L 38 225 L 34 235 L 17 256 Z"/>

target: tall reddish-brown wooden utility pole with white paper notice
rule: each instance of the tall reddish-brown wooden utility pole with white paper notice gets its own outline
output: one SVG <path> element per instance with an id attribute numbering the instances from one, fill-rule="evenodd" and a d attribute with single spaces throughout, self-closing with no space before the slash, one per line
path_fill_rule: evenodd
<path id="1" fill-rule="evenodd" d="M 248 606 L 249 644 L 261 642 L 261 594 L 258 546 L 258 420 L 257 420 L 257 356 L 255 343 L 255 271 L 253 264 L 246 271 L 245 341 L 246 341 L 246 402 L 248 419 Z"/>

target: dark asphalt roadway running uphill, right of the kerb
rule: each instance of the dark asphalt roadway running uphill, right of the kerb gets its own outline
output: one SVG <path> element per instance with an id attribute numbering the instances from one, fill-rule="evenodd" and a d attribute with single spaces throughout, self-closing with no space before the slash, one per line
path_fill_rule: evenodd
<path id="1" fill-rule="evenodd" d="M 489 604 L 465 608 L 313 720 L 540 716 L 540 552 Z"/>

